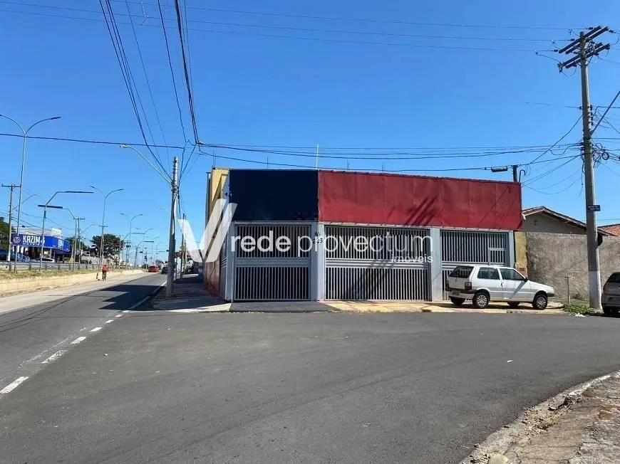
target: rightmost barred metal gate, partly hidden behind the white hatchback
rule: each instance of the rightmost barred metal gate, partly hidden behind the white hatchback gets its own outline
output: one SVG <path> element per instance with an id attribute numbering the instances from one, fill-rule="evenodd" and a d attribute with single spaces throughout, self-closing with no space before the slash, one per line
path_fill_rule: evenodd
<path id="1" fill-rule="evenodd" d="M 510 241 L 507 232 L 452 231 L 441 232 L 441 273 L 443 297 L 448 275 L 460 264 L 510 265 Z"/>

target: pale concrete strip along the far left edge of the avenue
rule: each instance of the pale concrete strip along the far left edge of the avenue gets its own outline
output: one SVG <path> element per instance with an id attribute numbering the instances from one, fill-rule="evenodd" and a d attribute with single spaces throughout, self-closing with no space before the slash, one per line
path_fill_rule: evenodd
<path id="1" fill-rule="evenodd" d="M 105 280 L 105 282 L 103 282 L 102 280 L 98 280 L 92 283 L 76 284 L 53 289 L 21 293 L 19 295 L 0 297 L 0 314 L 4 314 L 5 312 L 22 310 L 26 307 L 61 300 L 66 297 L 73 297 L 76 295 L 81 295 L 83 293 L 93 292 L 95 290 L 104 290 L 105 288 L 110 288 L 120 283 L 126 283 L 130 282 L 131 280 L 143 278 L 145 277 L 145 275 L 148 274 L 138 271 L 125 275 L 111 273 L 108 276 L 108 280 Z"/>

